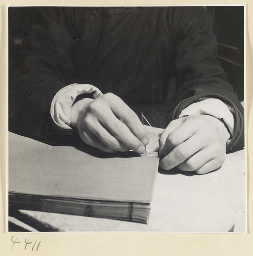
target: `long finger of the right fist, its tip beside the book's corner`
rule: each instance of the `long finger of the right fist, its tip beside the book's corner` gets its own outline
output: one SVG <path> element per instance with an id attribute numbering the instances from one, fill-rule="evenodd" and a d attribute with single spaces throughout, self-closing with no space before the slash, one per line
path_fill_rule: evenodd
<path id="1" fill-rule="evenodd" d="M 165 170 L 170 170 L 180 163 L 183 163 L 203 147 L 202 140 L 199 139 L 198 135 L 194 134 L 184 143 L 176 146 L 176 148 L 174 148 L 168 155 L 163 157 L 160 161 L 160 167 Z"/>

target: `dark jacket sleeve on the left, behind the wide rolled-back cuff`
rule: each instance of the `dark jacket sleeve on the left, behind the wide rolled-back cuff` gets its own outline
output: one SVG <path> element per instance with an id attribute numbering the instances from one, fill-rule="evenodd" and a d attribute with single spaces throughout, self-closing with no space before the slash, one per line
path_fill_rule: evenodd
<path id="1" fill-rule="evenodd" d="M 50 105 L 61 88 L 73 83 L 75 24 L 69 17 L 76 14 L 68 8 L 41 11 L 41 25 L 31 27 L 31 52 L 10 81 L 9 131 L 54 145 L 72 136 L 54 127 Z"/>

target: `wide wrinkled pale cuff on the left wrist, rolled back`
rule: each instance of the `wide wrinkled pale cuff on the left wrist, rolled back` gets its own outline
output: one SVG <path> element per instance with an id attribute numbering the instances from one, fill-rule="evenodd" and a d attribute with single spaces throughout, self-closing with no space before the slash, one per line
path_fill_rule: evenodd
<path id="1" fill-rule="evenodd" d="M 58 127 L 71 129 L 71 107 L 77 96 L 83 93 L 93 93 L 94 99 L 102 95 L 101 91 L 91 84 L 70 84 L 56 93 L 50 113 Z"/>

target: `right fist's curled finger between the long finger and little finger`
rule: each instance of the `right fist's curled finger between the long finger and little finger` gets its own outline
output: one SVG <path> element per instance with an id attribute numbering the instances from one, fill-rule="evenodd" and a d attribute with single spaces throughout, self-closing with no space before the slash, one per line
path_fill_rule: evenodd
<path id="1" fill-rule="evenodd" d="M 209 148 L 204 148 L 198 151 L 196 154 L 193 154 L 183 163 L 180 163 L 177 168 L 185 172 L 195 171 L 214 158 L 215 152 L 212 152 Z"/>

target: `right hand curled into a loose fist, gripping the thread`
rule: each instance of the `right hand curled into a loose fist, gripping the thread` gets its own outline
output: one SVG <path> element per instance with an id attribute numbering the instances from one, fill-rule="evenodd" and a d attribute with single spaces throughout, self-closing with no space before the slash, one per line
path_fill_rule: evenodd
<path id="1" fill-rule="evenodd" d="M 177 167 L 197 174 L 211 172 L 225 161 L 230 134 L 225 125 L 209 115 L 190 115 L 173 120 L 161 135 L 160 167 Z"/>

